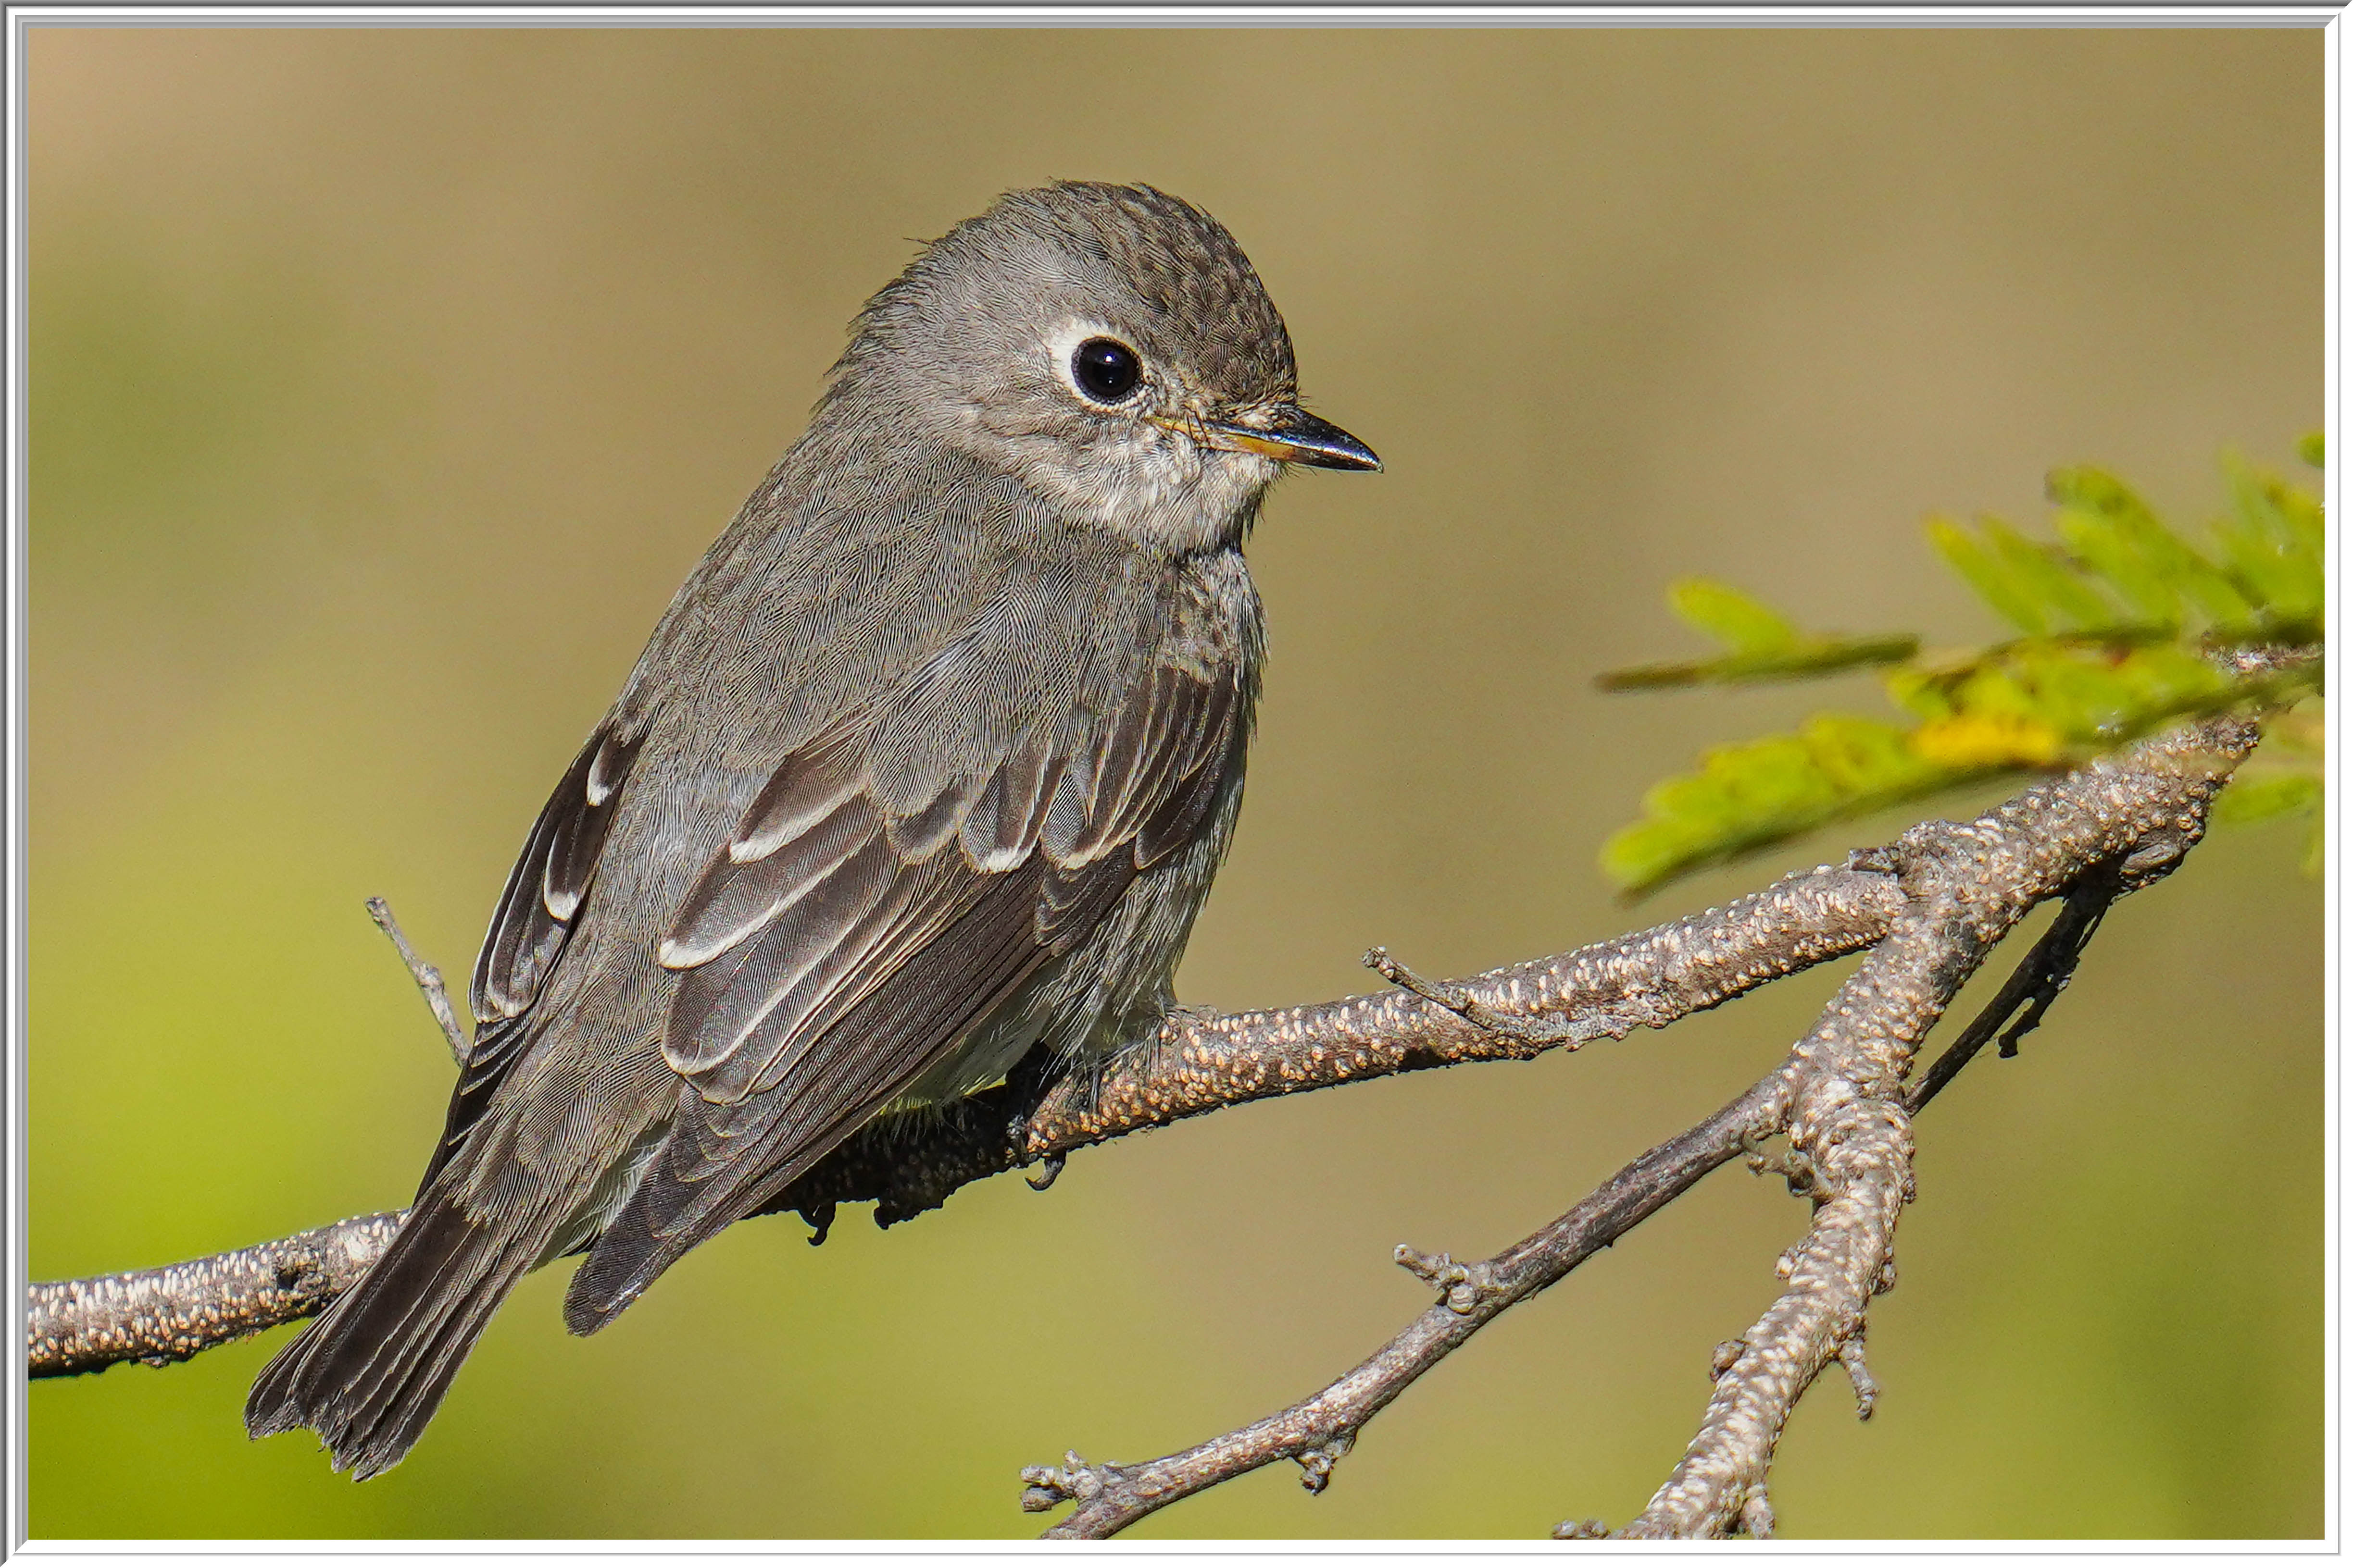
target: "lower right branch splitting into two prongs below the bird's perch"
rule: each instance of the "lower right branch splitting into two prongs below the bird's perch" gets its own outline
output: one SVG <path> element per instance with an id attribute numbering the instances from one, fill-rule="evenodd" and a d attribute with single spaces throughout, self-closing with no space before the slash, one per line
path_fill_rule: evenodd
<path id="1" fill-rule="evenodd" d="M 2207 802 L 2254 743 L 2257 729 L 2242 719 L 2184 726 L 2026 790 L 1974 823 L 1922 823 L 1887 851 L 1854 856 L 1849 875 L 1892 877 L 1904 912 L 1781 1067 L 1487 1262 L 1457 1265 L 1400 1248 L 1398 1260 L 1440 1288 L 1440 1302 L 1318 1394 L 1146 1465 L 1087 1465 L 1073 1453 L 1064 1467 L 1031 1467 L 1021 1472 L 1028 1483 L 1021 1507 L 1078 1502 L 1047 1535 L 1106 1537 L 1275 1460 L 1297 1460 L 1308 1490 L 1320 1493 L 1365 1422 L 1447 1352 L 1715 1166 L 1788 1131 L 1793 1152 L 1781 1168 L 1817 1199 L 1814 1227 L 1784 1255 L 1784 1298 L 1720 1359 L 1715 1399 L 1682 1465 L 1624 1530 L 1722 1535 L 1744 1523 L 1769 1533 L 1765 1467 L 1805 1387 L 1831 1359 L 1842 1359 L 1868 1408 L 1864 1305 L 1894 1281 L 1894 1218 L 1913 1192 L 1904 1072 L 1920 1037 L 2035 903 L 2087 877 L 2113 889 L 2113 898 L 2169 872 L 2202 835 Z"/>

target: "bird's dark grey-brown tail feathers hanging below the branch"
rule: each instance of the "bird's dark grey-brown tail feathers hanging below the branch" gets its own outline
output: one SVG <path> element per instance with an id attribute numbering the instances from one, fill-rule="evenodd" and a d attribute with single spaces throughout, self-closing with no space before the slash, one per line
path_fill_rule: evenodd
<path id="1" fill-rule="evenodd" d="M 252 1436 L 311 1427 L 360 1481 L 398 1465 L 433 1420 L 466 1352 L 536 1262 L 544 1237 L 419 1199 L 400 1237 L 254 1380 Z"/>

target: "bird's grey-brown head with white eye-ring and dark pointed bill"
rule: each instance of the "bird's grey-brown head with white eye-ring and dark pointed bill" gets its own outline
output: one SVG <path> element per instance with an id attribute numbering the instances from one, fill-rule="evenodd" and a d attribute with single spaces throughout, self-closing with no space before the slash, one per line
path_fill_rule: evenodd
<path id="1" fill-rule="evenodd" d="M 833 397 L 1169 552 L 1235 543 L 1289 463 L 1381 465 L 1299 407 L 1233 235 L 1151 186 L 1014 190 L 958 223 L 866 306 Z"/>

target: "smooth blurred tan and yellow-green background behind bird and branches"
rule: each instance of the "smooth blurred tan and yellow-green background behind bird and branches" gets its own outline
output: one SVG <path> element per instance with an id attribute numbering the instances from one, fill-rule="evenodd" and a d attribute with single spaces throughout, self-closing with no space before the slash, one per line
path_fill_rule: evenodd
<path id="1" fill-rule="evenodd" d="M 1555 952 L 1708 743 L 1842 691 L 1605 698 L 1725 576 L 1809 625 L 1993 635 L 1932 510 L 2097 461 L 2219 510 L 2322 411 L 2315 31 L 56 31 L 31 35 L 31 1267 L 407 1199 L 452 976 L 842 322 L 998 190 L 1217 212 L 1315 407 L 1252 545 L 1249 806 L 1181 994 Z M 1974 809 L 1984 802 L 1953 802 Z M 2115 910 L 1920 1124 L 1880 1415 L 1833 1373 L 1795 1535 L 2322 1528 L 2322 929 L 2301 830 Z M 2005 954 L 2002 966 L 2014 954 Z M 515 1295 L 414 1458 L 247 1443 L 287 1331 L 31 1389 L 33 1533 L 1021 1535 L 1016 1469 L 1148 1458 L 1351 1366 L 1777 1060 L 1840 971 L 1668 1034 L 1266 1103 L 821 1251 L 704 1246 L 595 1340 Z M 1984 997 L 1981 985 L 1977 997 Z M 1967 1004 L 1967 999 L 1965 999 Z M 1381 1415 L 1139 1535 L 1628 1519 L 1805 1222 L 1727 1171 Z"/>

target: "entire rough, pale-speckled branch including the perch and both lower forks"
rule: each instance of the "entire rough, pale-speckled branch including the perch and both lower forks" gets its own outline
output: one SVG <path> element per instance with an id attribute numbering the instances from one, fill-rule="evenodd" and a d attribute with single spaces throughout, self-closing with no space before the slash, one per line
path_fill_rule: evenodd
<path id="1" fill-rule="evenodd" d="M 1042 1166 L 1052 1178 L 1068 1152 L 1146 1126 L 1393 1072 L 1619 1039 L 1871 950 L 1781 1067 L 1631 1161 L 1553 1225 L 1473 1265 L 1398 1248 L 1398 1262 L 1426 1279 L 1438 1302 L 1311 1399 L 1148 1465 L 1071 1455 L 1066 1467 L 1024 1472 L 1024 1507 L 1078 1505 L 1049 1535 L 1113 1535 L 1275 1460 L 1297 1460 L 1308 1490 L 1320 1490 L 1365 1422 L 1480 1326 L 1567 1276 L 1715 1166 L 1741 1152 L 1772 1164 L 1758 1143 L 1788 1133 L 1788 1154 L 1774 1159 L 1814 1201 L 1807 1237 L 1784 1255 L 1779 1300 L 1720 1349 L 1699 1434 L 1624 1530 L 1765 1535 L 1772 1453 L 1812 1380 L 1831 1361 L 1845 1363 L 1868 1413 L 1866 1312 L 1894 1276 L 1894 1227 L 1913 1194 L 1911 1114 L 1981 1044 L 1955 1046 L 1948 1065 L 1908 1084 L 1920 1041 L 2026 912 L 2066 896 L 2061 926 L 2005 987 L 2000 1018 L 1981 1025 L 1991 1037 L 2026 1004 L 2019 1030 L 2031 1027 L 2106 903 L 2167 875 L 2200 839 L 2207 804 L 2257 736 L 2242 717 L 2186 724 L 1972 823 L 1922 823 L 1845 867 L 1471 980 L 1421 980 L 1377 954 L 1400 990 L 1257 1013 L 1181 1013 L 1099 1081 L 1054 1077 L 1031 1060 L 955 1107 L 861 1131 L 762 1211 L 798 1211 L 819 1239 L 849 1201 L 873 1201 L 875 1220 L 892 1225 L 1014 1166 Z M 33 1286 L 31 1373 L 186 1359 L 318 1312 L 381 1253 L 398 1222 L 367 1215 L 167 1269 Z"/>

